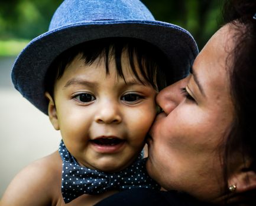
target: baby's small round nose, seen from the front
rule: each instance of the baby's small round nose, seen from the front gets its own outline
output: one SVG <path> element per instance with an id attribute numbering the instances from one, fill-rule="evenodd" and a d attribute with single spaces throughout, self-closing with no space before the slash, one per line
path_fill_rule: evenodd
<path id="1" fill-rule="evenodd" d="M 103 102 L 95 115 L 95 121 L 99 124 L 119 124 L 122 122 L 118 105 L 114 102 Z"/>

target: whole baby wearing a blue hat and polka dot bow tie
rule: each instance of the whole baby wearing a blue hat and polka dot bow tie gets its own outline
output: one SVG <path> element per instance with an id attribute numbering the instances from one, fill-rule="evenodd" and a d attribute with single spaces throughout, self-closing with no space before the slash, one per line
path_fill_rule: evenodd
<path id="1" fill-rule="evenodd" d="M 155 95 L 165 74 L 186 75 L 179 49 L 190 43 L 138 0 L 64 1 L 12 69 L 15 88 L 60 130 L 59 151 L 22 170 L 1 204 L 93 205 L 120 190 L 159 190 L 141 151 Z"/>

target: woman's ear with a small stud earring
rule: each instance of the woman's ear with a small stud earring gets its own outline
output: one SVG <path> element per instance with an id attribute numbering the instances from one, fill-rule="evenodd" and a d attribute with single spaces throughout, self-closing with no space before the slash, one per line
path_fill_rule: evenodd
<path id="1" fill-rule="evenodd" d="M 256 172 L 251 168 L 251 161 L 246 161 L 246 164 L 239 168 L 229 178 L 229 187 L 235 185 L 235 192 L 246 192 L 256 189 Z"/>

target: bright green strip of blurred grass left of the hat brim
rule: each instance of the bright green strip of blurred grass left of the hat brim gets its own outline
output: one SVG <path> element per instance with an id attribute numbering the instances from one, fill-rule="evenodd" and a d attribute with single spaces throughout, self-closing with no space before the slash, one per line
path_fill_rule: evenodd
<path id="1" fill-rule="evenodd" d="M 0 56 L 17 56 L 28 42 L 26 39 L 0 39 Z"/>

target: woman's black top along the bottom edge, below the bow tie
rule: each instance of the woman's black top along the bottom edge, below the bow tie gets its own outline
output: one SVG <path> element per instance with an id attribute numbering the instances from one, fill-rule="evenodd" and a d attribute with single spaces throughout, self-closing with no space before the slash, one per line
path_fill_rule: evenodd
<path id="1" fill-rule="evenodd" d="M 198 202 L 189 195 L 176 191 L 154 191 L 145 188 L 134 188 L 118 192 L 101 202 L 96 206 L 111 205 L 111 206 L 151 206 L 151 205 L 179 205 L 179 206 L 202 206 L 210 205 L 207 203 Z"/>

